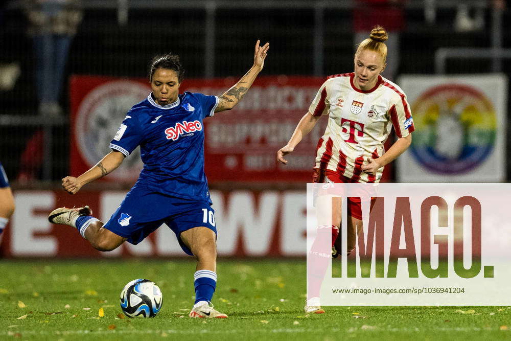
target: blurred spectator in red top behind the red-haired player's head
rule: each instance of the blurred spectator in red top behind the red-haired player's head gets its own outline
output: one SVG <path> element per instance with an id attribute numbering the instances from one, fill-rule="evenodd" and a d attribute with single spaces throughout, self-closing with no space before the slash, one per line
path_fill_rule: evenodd
<path id="1" fill-rule="evenodd" d="M 399 69 L 399 40 L 400 32 L 405 27 L 403 6 L 406 0 L 355 0 L 353 9 L 353 37 L 355 43 L 367 38 L 376 25 L 381 25 L 388 32 L 387 67 L 383 76 L 394 80 Z M 355 50 L 357 47 L 355 47 Z"/>

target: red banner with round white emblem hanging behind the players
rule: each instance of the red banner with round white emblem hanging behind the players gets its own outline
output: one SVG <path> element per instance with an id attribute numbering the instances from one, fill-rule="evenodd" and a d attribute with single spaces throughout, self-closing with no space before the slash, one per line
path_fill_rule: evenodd
<path id="1" fill-rule="evenodd" d="M 181 91 L 221 95 L 236 83 L 233 77 L 185 79 Z M 308 183 L 312 181 L 315 148 L 327 125 L 323 118 L 288 156 L 276 162 L 298 121 L 321 85 L 319 77 L 259 77 L 237 107 L 204 120 L 205 171 L 210 183 Z M 151 89 L 145 79 L 73 76 L 71 79 L 71 173 L 81 174 L 110 150 L 109 142 L 132 105 Z M 105 179 L 133 182 L 142 167 L 138 150 Z M 383 180 L 390 178 L 386 166 Z"/>

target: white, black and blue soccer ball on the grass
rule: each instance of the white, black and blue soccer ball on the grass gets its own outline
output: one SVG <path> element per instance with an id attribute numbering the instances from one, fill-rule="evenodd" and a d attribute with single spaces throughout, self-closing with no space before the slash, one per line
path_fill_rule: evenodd
<path id="1" fill-rule="evenodd" d="M 121 291 L 121 309 L 128 317 L 154 317 L 162 303 L 160 289 L 150 280 L 133 280 Z"/>

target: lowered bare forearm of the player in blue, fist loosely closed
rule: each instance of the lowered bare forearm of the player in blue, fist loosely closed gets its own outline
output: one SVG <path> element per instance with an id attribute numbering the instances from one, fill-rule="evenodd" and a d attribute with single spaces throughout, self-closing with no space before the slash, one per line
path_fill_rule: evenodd
<path id="1" fill-rule="evenodd" d="M 92 167 L 79 177 L 66 176 L 62 179 L 62 188 L 69 194 L 75 194 L 82 188 L 83 185 L 88 184 L 100 177 L 113 171 L 119 167 L 124 161 L 124 155 L 118 151 L 111 151 L 101 159 L 96 166 Z"/>

